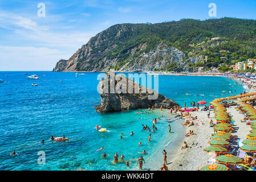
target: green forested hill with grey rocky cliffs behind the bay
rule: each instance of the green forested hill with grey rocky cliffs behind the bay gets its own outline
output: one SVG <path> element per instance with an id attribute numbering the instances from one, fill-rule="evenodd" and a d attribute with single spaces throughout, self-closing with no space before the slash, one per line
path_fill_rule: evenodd
<path id="1" fill-rule="evenodd" d="M 54 71 L 194 71 L 255 56 L 256 20 L 125 23 L 92 37 L 70 59 L 60 60 Z"/>

